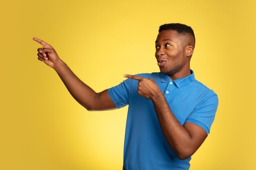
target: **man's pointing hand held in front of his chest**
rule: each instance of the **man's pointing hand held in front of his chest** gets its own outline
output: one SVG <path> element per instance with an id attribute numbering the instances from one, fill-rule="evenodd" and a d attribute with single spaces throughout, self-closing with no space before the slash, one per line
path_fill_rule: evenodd
<path id="1" fill-rule="evenodd" d="M 153 79 L 147 79 L 145 77 L 140 77 L 136 75 L 125 74 L 124 77 L 138 80 L 138 93 L 139 95 L 146 97 L 148 99 L 153 99 L 158 95 L 162 94 L 157 84 Z"/>

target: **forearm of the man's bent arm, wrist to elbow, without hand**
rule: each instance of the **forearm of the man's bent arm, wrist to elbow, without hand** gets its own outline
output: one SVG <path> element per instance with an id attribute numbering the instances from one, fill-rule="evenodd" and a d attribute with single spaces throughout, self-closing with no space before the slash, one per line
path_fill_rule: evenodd
<path id="1" fill-rule="evenodd" d="M 164 95 L 161 93 L 151 98 L 162 132 L 169 146 L 177 157 L 186 159 L 191 155 L 193 140 L 189 132 L 177 121 L 173 115 Z M 192 153 L 193 154 L 193 153 Z"/>

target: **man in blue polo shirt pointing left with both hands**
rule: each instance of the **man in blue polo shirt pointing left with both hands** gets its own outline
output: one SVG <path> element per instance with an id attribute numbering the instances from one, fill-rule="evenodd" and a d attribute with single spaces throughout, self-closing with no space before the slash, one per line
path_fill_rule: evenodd
<path id="1" fill-rule="evenodd" d="M 216 93 L 195 80 L 190 60 L 195 35 L 190 26 L 164 24 L 155 41 L 159 73 L 124 75 L 128 79 L 100 93 L 84 84 L 49 44 L 38 60 L 61 77 L 87 110 L 129 105 L 124 142 L 126 170 L 188 170 L 191 155 L 209 134 L 218 107 Z"/>

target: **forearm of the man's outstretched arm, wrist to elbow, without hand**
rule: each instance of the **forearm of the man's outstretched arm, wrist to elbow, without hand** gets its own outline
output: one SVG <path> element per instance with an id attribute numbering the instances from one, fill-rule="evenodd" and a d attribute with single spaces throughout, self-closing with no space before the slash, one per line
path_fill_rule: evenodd
<path id="1" fill-rule="evenodd" d="M 91 110 L 97 93 L 84 84 L 62 60 L 56 62 L 53 68 L 74 99 L 86 109 Z"/>

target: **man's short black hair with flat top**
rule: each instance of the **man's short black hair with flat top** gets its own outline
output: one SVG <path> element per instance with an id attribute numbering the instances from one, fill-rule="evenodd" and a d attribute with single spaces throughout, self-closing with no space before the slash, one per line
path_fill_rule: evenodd
<path id="1" fill-rule="evenodd" d="M 163 24 L 159 26 L 158 33 L 163 30 L 175 30 L 178 34 L 181 35 L 191 35 L 195 40 L 195 34 L 193 29 L 190 26 L 180 23 L 171 23 L 171 24 Z"/>

